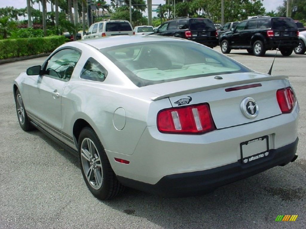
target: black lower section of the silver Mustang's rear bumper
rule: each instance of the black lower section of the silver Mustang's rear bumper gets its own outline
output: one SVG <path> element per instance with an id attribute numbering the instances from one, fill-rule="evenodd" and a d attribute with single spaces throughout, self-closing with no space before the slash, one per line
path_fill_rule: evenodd
<path id="1" fill-rule="evenodd" d="M 243 164 L 241 160 L 214 169 L 190 173 L 172 174 L 162 177 L 156 184 L 117 176 L 118 180 L 128 187 L 133 187 L 149 193 L 184 197 L 207 193 L 225 184 L 253 176 L 278 165 L 286 165 L 296 159 L 298 138 L 291 144 L 269 151 L 269 156 L 262 160 Z"/>

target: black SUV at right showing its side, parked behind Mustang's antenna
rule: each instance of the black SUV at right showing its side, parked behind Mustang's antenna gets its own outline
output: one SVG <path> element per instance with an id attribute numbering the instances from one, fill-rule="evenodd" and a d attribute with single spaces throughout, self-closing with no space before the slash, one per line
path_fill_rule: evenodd
<path id="1" fill-rule="evenodd" d="M 220 36 L 222 53 L 246 49 L 255 56 L 263 56 L 267 50 L 279 49 L 283 56 L 290 56 L 298 45 L 297 25 L 288 17 L 252 17 Z"/>

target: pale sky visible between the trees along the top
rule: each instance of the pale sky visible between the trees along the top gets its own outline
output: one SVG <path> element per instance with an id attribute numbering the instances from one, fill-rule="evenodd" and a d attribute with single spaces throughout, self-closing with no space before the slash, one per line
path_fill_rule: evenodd
<path id="1" fill-rule="evenodd" d="M 213 0 L 216 1 L 216 0 Z M 106 0 L 106 2 L 110 3 L 110 0 Z M 165 4 L 164 0 L 152 0 L 152 4 Z M 263 0 L 263 6 L 266 8 L 267 12 L 271 12 L 271 10 L 276 11 L 276 8 L 283 4 L 283 0 Z M 20 9 L 25 8 L 27 6 L 26 0 L 0 0 L 0 8 L 5 8 L 6 6 L 13 6 L 14 8 Z M 50 4 L 49 6 L 50 11 Z M 34 8 L 38 9 L 38 4 L 34 4 Z M 155 9 L 156 6 L 152 6 L 152 9 Z M 156 13 L 152 13 L 152 16 L 155 16 Z"/>

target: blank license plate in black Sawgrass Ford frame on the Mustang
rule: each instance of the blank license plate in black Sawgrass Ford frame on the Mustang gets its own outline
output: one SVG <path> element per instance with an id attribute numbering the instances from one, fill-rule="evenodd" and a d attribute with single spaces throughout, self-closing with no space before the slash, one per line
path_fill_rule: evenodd
<path id="1" fill-rule="evenodd" d="M 269 155 L 269 137 L 263 136 L 242 142 L 240 152 L 243 164 L 267 157 Z"/>

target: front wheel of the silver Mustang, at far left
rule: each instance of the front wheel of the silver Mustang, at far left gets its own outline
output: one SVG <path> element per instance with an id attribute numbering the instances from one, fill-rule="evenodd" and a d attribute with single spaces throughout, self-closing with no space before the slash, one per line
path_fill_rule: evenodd
<path id="1" fill-rule="evenodd" d="M 17 111 L 17 117 L 18 117 L 18 122 L 24 131 L 30 131 L 33 129 L 33 126 L 28 118 L 27 112 L 24 108 L 23 100 L 21 97 L 21 93 L 19 89 L 17 89 L 15 93 L 15 103 L 16 103 L 16 111 Z"/>

